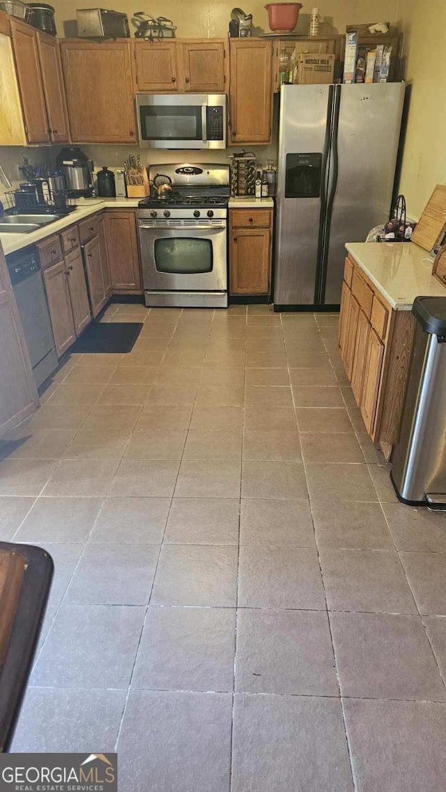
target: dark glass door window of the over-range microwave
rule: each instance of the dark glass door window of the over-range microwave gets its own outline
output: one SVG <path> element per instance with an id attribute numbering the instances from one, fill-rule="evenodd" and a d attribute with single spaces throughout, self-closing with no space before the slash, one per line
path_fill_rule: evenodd
<path id="1" fill-rule="evenodd" d="M 201 107 L 140 107 L 143 140 L 202 140 Z"/>

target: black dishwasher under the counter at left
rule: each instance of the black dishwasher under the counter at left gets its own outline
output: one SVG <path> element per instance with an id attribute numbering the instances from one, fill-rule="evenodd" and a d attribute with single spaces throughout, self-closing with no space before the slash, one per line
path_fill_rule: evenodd
<path id="1" fill-rule="evenodd" d="M 6 261 L 31 360 L 32 374 L 36 386 L 39 387 L 55 371 L 58 364 L 39 255 L 35 247 L 28 247 L 17 253 L 10 253 Z"/>

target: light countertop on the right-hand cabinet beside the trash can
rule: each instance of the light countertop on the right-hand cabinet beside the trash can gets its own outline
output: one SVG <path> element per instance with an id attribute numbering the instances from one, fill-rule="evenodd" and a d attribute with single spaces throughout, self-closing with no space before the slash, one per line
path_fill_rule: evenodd
<path id="1" fill-rule="evenodd" d="M 433 257 L 414 242 L 348 242 L 345 247 L 395 310 L 411 310 L 415 297 L 446 297 L 432 275 Z"/>

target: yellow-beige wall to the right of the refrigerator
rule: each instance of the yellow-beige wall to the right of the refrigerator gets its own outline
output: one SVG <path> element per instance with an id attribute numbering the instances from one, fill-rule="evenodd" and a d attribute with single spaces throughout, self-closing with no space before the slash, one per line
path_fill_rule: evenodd
<path id="1" fill-rule="evenodd" d="M 418 219 L 436 184 L 446 184 L 446 2 L 402 0 L 406 76 L 411 85 L 400 192 Z"/>

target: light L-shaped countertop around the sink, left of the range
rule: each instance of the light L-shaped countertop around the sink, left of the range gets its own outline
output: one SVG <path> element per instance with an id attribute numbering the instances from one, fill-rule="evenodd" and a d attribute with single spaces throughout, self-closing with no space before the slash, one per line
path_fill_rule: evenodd
<path id="1" fill-rule="evenodd" d="M 52 234 L 59 234 L 64 228 L 72 226 L 73 223 L 78 223 L 79 220 L 84 220 L 90 217 L 96 211 L 101 209 L 132 209 L 138 206 L 140 198 L 77 198 L 77 208 L 71 211 L 69 215 L 64 215 L 60 220 L 55 220 L 55 223 L 48 223 L 48 226 L 38 228 L 32 231 L 31 234 L 0 234 L 0 242 L 5 255 L 15 253 L 16 250 L 35 245 L 36 242 L 41 242 L 42 239 L 52 236 Z"/>

